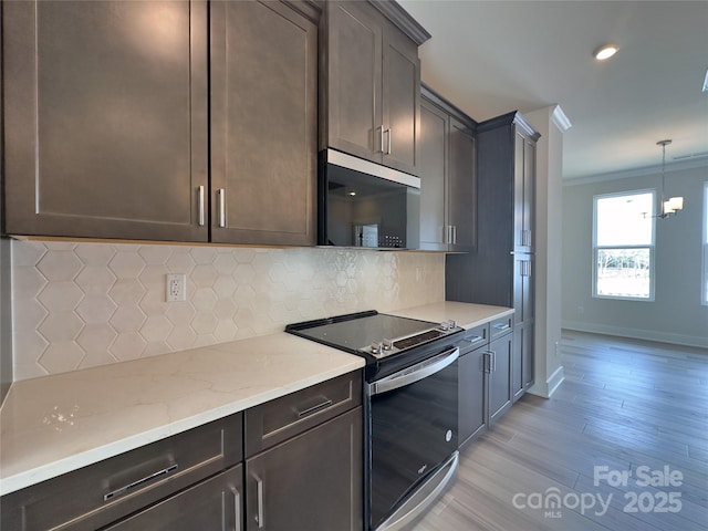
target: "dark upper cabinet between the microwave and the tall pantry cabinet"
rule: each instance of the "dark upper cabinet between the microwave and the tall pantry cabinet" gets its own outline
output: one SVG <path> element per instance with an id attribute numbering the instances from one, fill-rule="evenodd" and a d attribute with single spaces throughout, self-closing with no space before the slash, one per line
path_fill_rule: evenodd
<path id="1" fill-rule="evenodd" d="M 477 124 L 429 87 L 421 93 L 420 249 L 469 252 L 477 240 Z"/>

